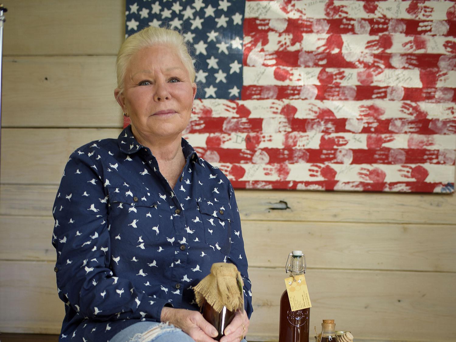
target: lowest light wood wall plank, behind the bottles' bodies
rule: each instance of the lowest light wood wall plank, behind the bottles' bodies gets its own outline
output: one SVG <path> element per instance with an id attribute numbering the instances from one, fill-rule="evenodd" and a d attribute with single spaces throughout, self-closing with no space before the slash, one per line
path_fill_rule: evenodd
<path id="1" fill-rule="evenodd" d="M 285 273 L 249 271 L 254 293 L 249 338 L 276 340 Z M 0 311 L 0 330 L 58 333 L 64 304 L 57 297 L 53 263 L 1 261 L 0 275 L 0 305 L 10 308 Z M 442 327 L 454 321 L 455 274 L 315 269 L 306 280 L 311 327 L 331 318 L 357 339 L 443 341 L 448 331 Z"/>

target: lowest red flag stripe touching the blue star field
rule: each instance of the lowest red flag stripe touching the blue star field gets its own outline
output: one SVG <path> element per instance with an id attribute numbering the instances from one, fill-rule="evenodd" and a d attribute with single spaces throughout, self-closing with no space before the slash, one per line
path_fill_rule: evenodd
<path id="1" fill-rule="evenodd" d="M 247 85 L 242 87 L 243 100 L 372 100 L 455 102 L 455 88 L 403 88 L 378 86 L 331 86 L 331 85 Z M 316 92 L 316 94 L 315 94 Z M 402 95 L 403 93 L 403 95 Z M 443 95 L 440 96 L 440 95 Z"/>

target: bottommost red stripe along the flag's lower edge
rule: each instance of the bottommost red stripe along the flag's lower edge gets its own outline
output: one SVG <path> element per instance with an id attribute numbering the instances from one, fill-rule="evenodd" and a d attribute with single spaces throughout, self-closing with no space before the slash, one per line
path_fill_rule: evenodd
<path id="1" fill-rule="evenodd" d="M 229 178 L 229 177 L 228 177 Z M 407 188 L 408 192 L 434 192 L 434 189 L 439 186 L 448 186 L 454 188 L 454 183 L 426 183 L 426 182 L 394 182 L 394 183 L 366 183 L 366 182 L 340 182 L 337 180 L 326 180 L 316 182 L 295 182 L 295 181 L 240 181 L 230 179 L 233 188 L 235 189 L 309 189 L 309 190 L 334 190 L 337 186 L 342 187 L 347 184 L 345 189 L 352 191 L 401 191 L 400 189 Z M 351 185 L 351 188 L 348 186 Z M 340 189 L 340 188 L 339 188 Z M 452 190 L 451 190 L 452 191 Z"/>

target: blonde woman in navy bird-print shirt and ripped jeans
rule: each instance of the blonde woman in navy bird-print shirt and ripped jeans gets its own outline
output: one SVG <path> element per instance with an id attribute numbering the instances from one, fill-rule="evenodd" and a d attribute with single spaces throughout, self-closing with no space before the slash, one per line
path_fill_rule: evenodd
<path id="1" fill-rule="evenodd" d="M 244 279 L 245 310 L 222 339 L 241 341 L 252 305 L 240 218 L 228 179 L 182 138 L 197 89 L 183 39 L 146 28 L 116 68 L 131 126 L 70 156 L 53 208 L 60 341 L 214 341 L 192 287 L 216 262 Z"/>

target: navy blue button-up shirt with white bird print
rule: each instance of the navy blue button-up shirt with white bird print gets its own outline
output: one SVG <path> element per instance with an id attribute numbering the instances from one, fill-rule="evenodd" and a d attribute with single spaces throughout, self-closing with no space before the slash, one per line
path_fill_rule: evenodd
<path id="1" fill-rule="evenodd" d="M 252 313 L 233 188 L 182 139 L 186 165 L 174 189 L 127 127 L 69 158 L 53 207 L 59 341 L 109 341 L 164 305 L 198 310 L 192 287 L 212 263 L 234 263 Z"/>

